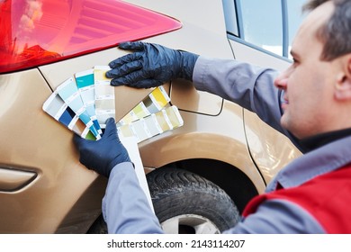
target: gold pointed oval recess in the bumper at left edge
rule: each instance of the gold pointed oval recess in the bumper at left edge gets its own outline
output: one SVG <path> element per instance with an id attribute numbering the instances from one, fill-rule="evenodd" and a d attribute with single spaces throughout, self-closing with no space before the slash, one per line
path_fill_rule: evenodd
<path id="1" fill-rule="evenodd" d="M 0 191 L 14 192 L 30 184 L 37 173 L 0 166 Z"/>

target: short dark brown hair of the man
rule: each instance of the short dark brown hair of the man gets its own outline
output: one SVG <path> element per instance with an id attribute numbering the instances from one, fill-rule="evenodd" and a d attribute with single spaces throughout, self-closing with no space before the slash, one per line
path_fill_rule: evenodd
<path id="1" fill-rule="evenodd" d="M 317 31 L 318 39 L 324 43 L 321 58 L 327 61 L 351 52 L 351 1 L 311 0 L 303 6 L 303 11 L 311 11 L 329 1 L 335 6 L 334 13 Z"/>

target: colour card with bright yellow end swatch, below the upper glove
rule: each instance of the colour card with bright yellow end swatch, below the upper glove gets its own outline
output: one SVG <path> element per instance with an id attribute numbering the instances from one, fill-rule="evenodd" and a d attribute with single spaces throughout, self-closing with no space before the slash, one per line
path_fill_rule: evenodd
<path id="1" fill-rule="evenodd" d="M 121 121 L 117 123 L 117 126 L 130 124 L 132 121 L 137 121 L 141 118 L 147 117 L 151 113 L 159 112 L 163 109 L 167 103 L 170 102 L 168 94 L 163 86 L 156 87 L 142 102 L 136 105 L 127 115 L 125 115 Z"/>

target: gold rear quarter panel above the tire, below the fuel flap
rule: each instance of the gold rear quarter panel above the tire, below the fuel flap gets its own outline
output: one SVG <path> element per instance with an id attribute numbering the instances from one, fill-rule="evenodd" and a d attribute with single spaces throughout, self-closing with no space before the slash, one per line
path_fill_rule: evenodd
<path id="1" fill-rule="evenodd" d="M 237 167 L 255 184 L 258 193 L 264 192 L 266 184 L 248 153 L 241 107 L 225 101 L 218 116 L 181 114 L 183 127 L 139 144 L 144 166 L 161 167 L 193 158 L 219 160 Z"/>

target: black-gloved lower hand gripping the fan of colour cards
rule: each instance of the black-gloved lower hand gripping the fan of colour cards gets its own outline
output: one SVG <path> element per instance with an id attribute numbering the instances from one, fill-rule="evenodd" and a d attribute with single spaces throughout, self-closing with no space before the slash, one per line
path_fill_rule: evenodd
<path id="1" fill-rule="evenodd" d="M 113 118 L 106 121 L 106 129 L 99 140 L 82 139 L 74 136 L 74 142 L 79 150 L 79 161 L 89 169 L 106 177 L 110 176 L 112 168 L 123 162 L 130 162 L 127 149 L 121 144 Z"/>

